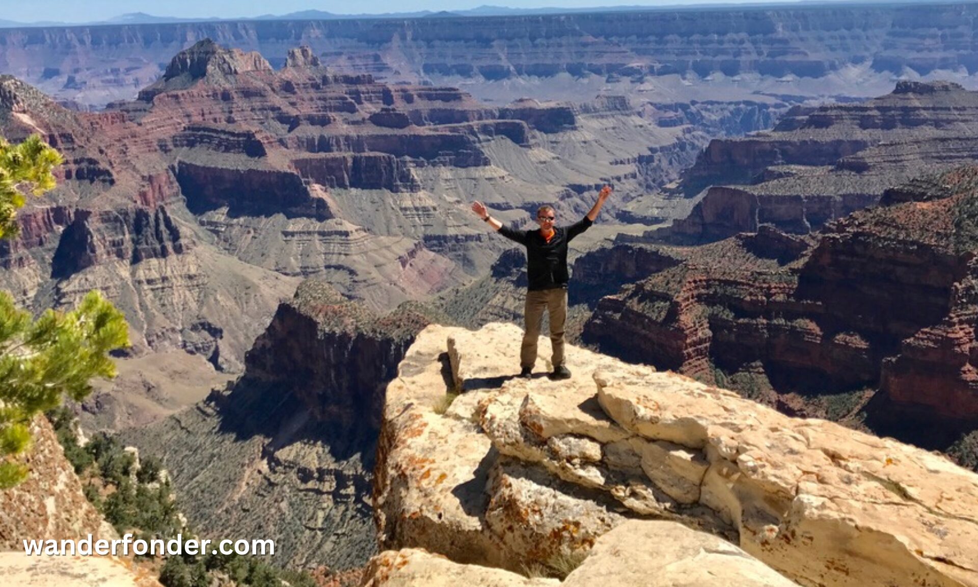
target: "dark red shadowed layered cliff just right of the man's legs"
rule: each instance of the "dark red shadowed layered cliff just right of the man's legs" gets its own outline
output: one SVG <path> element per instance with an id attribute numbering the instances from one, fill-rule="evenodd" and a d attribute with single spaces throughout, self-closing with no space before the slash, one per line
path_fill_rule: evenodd
<path id="1" fill-rule="evenodd" d="M 881 433 L 946 449 L 978 426 L 975 176 L 966 167 L 918 180 L 810 237 L 762 227 L 657 248 L 675 266 L 601 299 L 583 339 L 789 413 L 862 410 Z M 635 256 L 627 246 L 601 254 Z M 606 261 L 578 265 L 596 262 Z M 831 398 L 840 392 L 851 397 Z"/>

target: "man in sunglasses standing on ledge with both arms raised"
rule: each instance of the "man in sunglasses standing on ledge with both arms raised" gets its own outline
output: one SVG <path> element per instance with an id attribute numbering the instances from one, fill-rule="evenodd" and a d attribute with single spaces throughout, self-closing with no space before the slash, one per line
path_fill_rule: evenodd
<path id="1" fill-rule="evenodd" d="M 576 224 L 566 228 L 556 226 L 554 206 L 543 205 L 537 210 L 539 230 L 518 231 L 493 218 L 481 202 L 472 203 L 472 211 L 489 223 L 493 230 L 526 247 L 526 274 L 529 287 L 526 293 L 524 318 L 526 332 L 519 352 L 519 377 L 529 378 L 537 361 L 537 339 L 544 319 L 544 310 L 550 314 L 551 345 L 554 348 L 552 362 L 554 372 L 550 378 L 564 380 L 570 378 L 570 371 L 564 365 L 563 326 L 567 319 L 567 244 L 584 231 L 591 228 L 604 201 L 611 195 L 611 188 L 604 186 L 598 195 L 598 202 L 591 211 Z"/>

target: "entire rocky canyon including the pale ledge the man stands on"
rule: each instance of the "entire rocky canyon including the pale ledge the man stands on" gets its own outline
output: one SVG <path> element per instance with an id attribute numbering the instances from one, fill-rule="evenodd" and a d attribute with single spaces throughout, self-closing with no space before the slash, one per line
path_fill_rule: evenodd
<path id="1" fill-rule="evenodd" d="M 975 10 L 0 29 L 0 134 L 66 158 L 0 286 L 104 291 L 134 345 L 83 429 L 280 565 L 975 585 L 974 474 L 899 442 L 978 471 Z M 524 256 L 468 205 L 605 183 L 575 376 L 512 380 Z M 42 469 L 5 548 L 81 503 Z"/>

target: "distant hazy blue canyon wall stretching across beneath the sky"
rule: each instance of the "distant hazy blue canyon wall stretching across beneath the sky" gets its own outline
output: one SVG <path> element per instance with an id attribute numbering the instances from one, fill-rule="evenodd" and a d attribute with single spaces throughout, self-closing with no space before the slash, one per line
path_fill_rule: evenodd
<path id="1" fill-rule="evenodd" d="M 131 98 L 195 41 L 260 52 L 237 70 L 323 65 L 392 80 L 473 84 L 484 97 L 557 98 L 575 87 L 697 100 L 753 90 L 872 95 L 894 75 L 974 72 L 967 5 L 713 8 L 493 18 L 268 21 L 5 29 L 4 71 L 59 98 L 103 105 Z M 301 59 L 289 49 L 308 45 Z M 105 49 L 103 49 L 105 48 Z M 108 48 L 111 48 L 109 50 Z M 861 75 L 854 88 L 852 75 Z M 686 82 L 697 87 L 689 88 Z M 875 87 L 874 87 L 875 86 Z M 865 88 L 865 89 L 863 89 Z M 866 92 L 866 94 L 860 94 Z M 666 99 L 668 100 L 668 98 Z M 507 100 L 509 101 L 509 100 Z"/>

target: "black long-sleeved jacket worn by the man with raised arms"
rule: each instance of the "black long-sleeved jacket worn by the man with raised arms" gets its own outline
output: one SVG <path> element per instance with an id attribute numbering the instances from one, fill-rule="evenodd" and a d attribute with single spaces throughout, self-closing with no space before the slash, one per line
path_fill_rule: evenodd
<path id="1" fill-rule="evenodd" d="M 567 243 L 594 224 L 587 216 L 566 227 L 556 227 L 550 243 L 540 229 L 513 230 L 503 225 L 499 229 L 507 239 L 526 247 L 526 277 L 529 291 L 553 290 L 567 287 Z"/>

